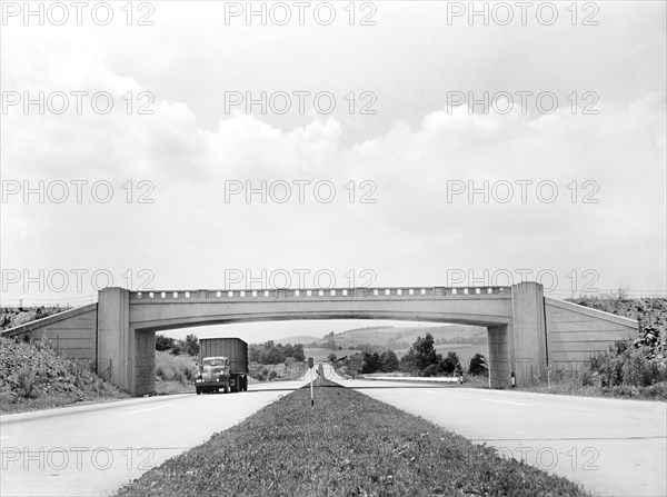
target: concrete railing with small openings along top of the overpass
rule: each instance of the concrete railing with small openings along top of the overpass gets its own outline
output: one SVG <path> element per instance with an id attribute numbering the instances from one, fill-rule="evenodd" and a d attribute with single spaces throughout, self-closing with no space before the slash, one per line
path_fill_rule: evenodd
<path id="1" fill-rule="evenodd" d="M 510 287 L 362 287 L 362 288 L 276 288 L 246 290 L 153 290 L 130 291 L 130 300 L 220 300 L 298 298 L 424 298 L 480 297 L 510 294 Z"/>

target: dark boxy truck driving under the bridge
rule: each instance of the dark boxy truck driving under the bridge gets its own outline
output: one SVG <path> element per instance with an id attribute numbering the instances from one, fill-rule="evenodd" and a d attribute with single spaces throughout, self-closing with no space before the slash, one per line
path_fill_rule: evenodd
<path id="1" fill-rule="evenodd" d="M 199 340 L 197 395 L 248 391 L 248 344 L 240 338 Z"/>

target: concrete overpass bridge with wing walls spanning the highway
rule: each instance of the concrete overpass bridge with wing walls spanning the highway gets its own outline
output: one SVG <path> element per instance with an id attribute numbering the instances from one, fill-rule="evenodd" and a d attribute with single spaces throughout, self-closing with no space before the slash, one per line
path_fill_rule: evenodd
<path id="1" fill-rule="evenodd" d="M 395 319 L 486 327 L 489 384 L 507 388 L 576 367 L 638 324 L 545 298 L 542 287 L 392 287 L 354 289 L 99 291 L 98 302 L 6 330 L 4 337 L 44 338 L 67 357 L 93 362 L 123 390 L 155 391 L 156 331 L 231 322 L 296 319 Z"/>

